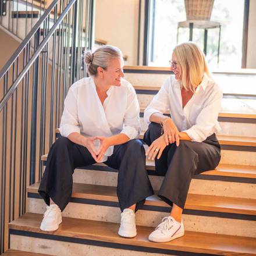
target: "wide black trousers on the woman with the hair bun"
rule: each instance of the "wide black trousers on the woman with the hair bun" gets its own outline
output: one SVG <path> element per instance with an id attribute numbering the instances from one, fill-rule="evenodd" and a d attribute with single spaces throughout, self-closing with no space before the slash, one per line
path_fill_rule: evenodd
<path id="1" fill-rule="evenodd" d="M 58 138 L 49 151 L 38 193 L 47 205 L 51 198 L 63 211 L 72 195 L 74 169 L 93 163 L 95 161 L 86 147 L 65 137 Z M 145 150 L 140 140 L 115 145 L 105 164 L 119 170 L 117 195 L 121 211 L 136 203 L 137 211 L 145 198 L 154 194 L 145 169 Z"/>

